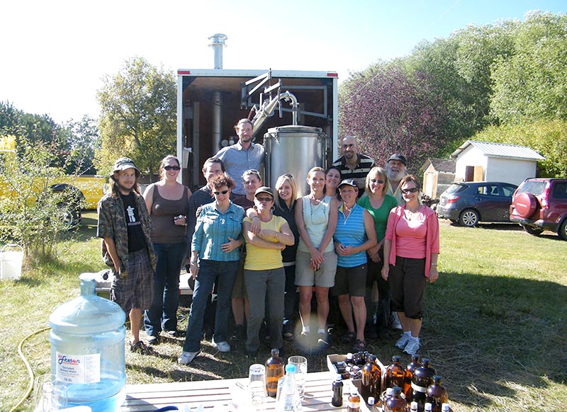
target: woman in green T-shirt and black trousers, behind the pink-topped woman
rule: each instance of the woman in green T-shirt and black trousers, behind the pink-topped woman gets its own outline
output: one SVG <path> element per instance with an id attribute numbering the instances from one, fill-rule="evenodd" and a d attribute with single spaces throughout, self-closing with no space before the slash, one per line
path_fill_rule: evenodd
<path id="1" fill-rule="evenodd" d="M 398 201 L 386 194 L 388 176 L 378 166 L 370 169 L 366 175 L 366 196 L 358 204 L 368 210 L 374 220 L 378 244 L 369 248 L 368 273 L 366 275 L 366 327 L 367 338 L 375 339 L 378 334 L 386 333 L 390 319 L 390 285 L 380 275 L 383 263 L 383 244 L 386 235 L 386 223 L 390 211 L 398 206 Z M 376 325 L 374 315 L 376 314 Z"/>

